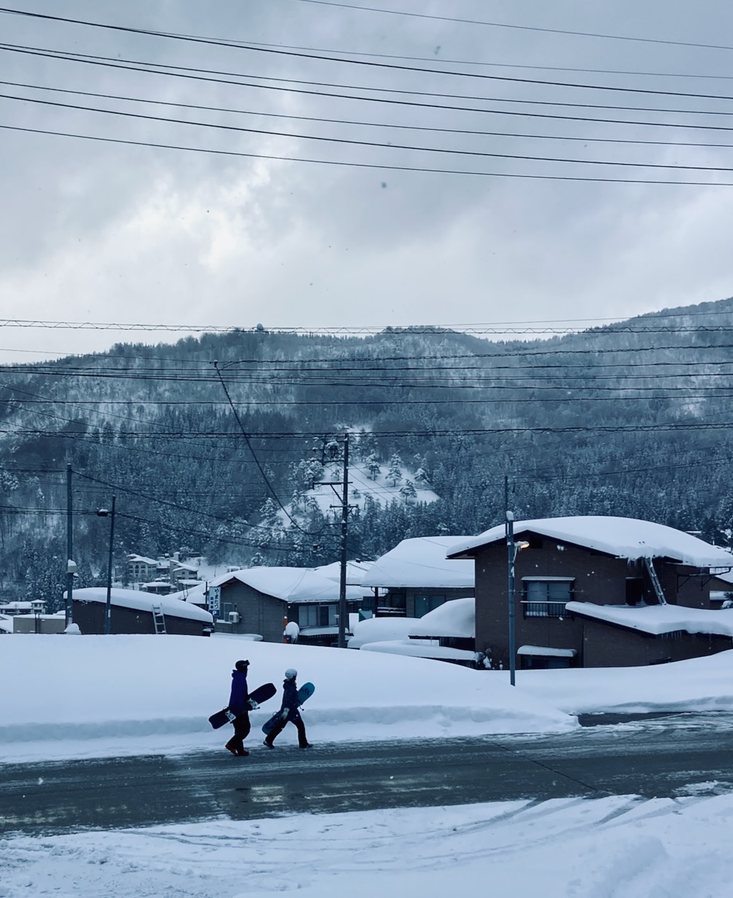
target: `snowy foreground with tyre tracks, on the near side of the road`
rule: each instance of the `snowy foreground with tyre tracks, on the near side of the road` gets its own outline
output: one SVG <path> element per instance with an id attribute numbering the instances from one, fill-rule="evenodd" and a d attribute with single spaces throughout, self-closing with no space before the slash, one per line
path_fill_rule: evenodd
<path id="1" fill-rule="evenodd" d="M 725 898 L 733 796 L 570 798 L 0 841 L 0 896 Z"/>

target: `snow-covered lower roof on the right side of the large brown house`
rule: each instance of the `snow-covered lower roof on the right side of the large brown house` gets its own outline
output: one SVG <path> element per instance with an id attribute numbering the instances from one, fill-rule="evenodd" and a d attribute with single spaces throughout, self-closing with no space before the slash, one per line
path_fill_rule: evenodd
<path id="1" fill-rule="evenodd" d="M 684 608 L 682 605 L 595 605 L 590 602 L 569 602 L 565 609 L 596 621 L 615 623 L 654 636 L 677 630 L 733 636 L 731 609 L 708 611 L 705 608 Z"/>

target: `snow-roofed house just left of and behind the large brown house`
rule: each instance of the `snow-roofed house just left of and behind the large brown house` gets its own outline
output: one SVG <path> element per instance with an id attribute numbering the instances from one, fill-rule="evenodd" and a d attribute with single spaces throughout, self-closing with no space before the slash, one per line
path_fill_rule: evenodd
<path id="1" fill-rule="evenodd" d="M 413 537 L 376 559 L 361 581 L 375 590 L 376 616 L 421 618 L 449 599 L 472 596 L 472 561 L 446 559 L 462 539 L 467 537 Z"/>

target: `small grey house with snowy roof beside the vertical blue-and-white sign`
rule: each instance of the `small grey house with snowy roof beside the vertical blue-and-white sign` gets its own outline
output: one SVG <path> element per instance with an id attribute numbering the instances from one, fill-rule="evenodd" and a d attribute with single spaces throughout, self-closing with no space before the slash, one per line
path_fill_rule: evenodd
<path id="1" fill-rule="evenodd" d="M 219 632 L 282 642 L 285 625 L 295 621 L 299 642 L 331 646 L 338 638 L 340 583 L 311 568 L 242 568 L 216 577 L 212 587 L 220 590 Z M 365 594 L 347 585 L 347 612 L 358 612 Z"/>

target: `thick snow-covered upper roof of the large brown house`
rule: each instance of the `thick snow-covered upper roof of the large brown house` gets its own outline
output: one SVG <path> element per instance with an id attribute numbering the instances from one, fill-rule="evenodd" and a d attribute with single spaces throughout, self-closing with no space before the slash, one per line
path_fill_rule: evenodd
<path id="1" fill-rule="evenodd" d="M 733 554 L 729 551 L 711 546 L 691 533 L 675 530 L 674 527 L 631 517 L 578 515 L 515 521 L 515 539 L 527 532 L 585 546 L 615 558 L 668 558 L 693 568 L 733 568 Z M 499 524 L 479 536 L 463 541 L 456 539 L 448 555 L 455 558 L 464 552 L 505 539 L 505 525 Z"/>

